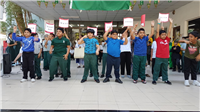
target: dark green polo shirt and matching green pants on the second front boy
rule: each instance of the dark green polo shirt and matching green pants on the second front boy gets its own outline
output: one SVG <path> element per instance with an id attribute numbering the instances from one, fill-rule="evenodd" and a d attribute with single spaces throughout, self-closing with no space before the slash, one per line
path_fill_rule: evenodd
<path id="1" fill-rule="evenodd" d="M 70 42 L 65 37 L 59 39 L 58 37 L 52 40 L 51 45 L 54 46 L 53 55 L 50 63 L 50 79 L 54 79 L 54 73 L 56 72 L 58 65 L 63 74 L 63 78 L 67 79 L 67 60 L 64 59 L 64 56 L 67 53 L 67 46 L 70 45 Z"/>

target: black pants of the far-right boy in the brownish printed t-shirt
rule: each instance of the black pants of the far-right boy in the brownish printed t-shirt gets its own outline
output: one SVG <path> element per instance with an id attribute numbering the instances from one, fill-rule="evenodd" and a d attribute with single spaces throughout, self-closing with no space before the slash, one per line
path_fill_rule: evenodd
<path id="1" fill-rule="evenodd" d="M 189 59 L 184 57 L 184 76 L 185 80 L 189 80 L 190 71 L 191 71 L 191 79 L 197 80 L 197 64 L 198 62 L 195 59 Z"/>

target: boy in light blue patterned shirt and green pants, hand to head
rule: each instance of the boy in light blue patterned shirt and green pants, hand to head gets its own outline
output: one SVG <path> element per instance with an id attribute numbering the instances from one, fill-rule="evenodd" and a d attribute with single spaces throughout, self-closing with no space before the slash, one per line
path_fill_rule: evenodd
<path id="1" fill-rule="evenodd" d="M 97 56 L 96 55 L 99 55 L 99 50 L 100 50 L 99 43 L 97 39 L 93 38 L 94 30 L 88 29 L 86 33 L 87 35 L 85 35 L 83 38 L 81 38 L 78 41 L 79 45 L 85 43 L 85 56 L 84 56 L 85 68 L 84 68 L 84 75 L 83 75 L 83 79 L 81 80 L 81 83 L 84 83 L 85 81 L 87 81 L 90 66 L 92 67 L 91 71 L 94 75 L 94 80 L 97 83 L 99 83 L 100 81 L 96 72 L 97 71 L 97 67 L 96 67 Z"/>

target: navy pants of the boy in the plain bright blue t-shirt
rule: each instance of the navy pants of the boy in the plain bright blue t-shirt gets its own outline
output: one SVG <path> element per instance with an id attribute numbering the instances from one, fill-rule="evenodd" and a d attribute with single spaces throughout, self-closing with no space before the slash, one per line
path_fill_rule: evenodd
<path id="1" fill-rule="evenodd" d="M 106 71 L 106 78 L 109 78 L 112 71 L 112 66 L 115 69 L 115 77 L 119 78 L 119 65 L 120 65 L 120 57 L 113 57 L 111 55 L 107 55 L 107 71 Z"/>

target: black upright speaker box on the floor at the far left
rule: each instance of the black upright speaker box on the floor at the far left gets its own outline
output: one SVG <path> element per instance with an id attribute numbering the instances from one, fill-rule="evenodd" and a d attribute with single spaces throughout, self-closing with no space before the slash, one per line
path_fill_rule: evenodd
<path id="1" fill-rule="evenodd" d="M 3 72 L 4 74 L 10 74 L 12 70 L 12 62 L 10 54 L 3 54 Z"/>

